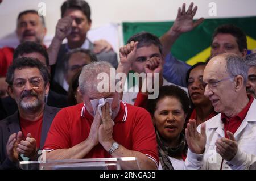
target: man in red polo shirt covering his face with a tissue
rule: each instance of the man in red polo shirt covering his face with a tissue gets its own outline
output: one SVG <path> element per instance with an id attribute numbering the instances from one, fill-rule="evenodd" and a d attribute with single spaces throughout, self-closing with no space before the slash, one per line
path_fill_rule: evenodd
<path id="1" fill-rule="evenodd" d="M 46 159 L 137 157 L 140 169 L 157 169 L 158 151 L 150 113 L 122 102 L 108 62 L 84 66 L 79 87 L 84 103 L 56 115 L 44 144 Z M 99 75 L 104 74 L 102 79 Z M 110 78 L 110 79 L 109 79 Z M 107 81 L 100 90 L 102 81 Z M 99 88 L 100 87 L 100 88 Z M 137 165 L 122 165 L 135 169 Z"/>

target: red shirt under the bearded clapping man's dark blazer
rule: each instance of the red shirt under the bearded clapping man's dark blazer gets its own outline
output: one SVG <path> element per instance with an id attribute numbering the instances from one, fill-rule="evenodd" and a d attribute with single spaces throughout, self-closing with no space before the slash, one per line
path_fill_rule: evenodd
<path id="1" fill-rule="evenodd" d="M 26 140 L 27 134 L 31 133 L 36 140 L 36 147 L 40 148 L 41 130 L 42 130 L 43 116 L 36 121 L 28 121 L 20 117 L 20 128 L 23 134 L 23 140 Z"/>

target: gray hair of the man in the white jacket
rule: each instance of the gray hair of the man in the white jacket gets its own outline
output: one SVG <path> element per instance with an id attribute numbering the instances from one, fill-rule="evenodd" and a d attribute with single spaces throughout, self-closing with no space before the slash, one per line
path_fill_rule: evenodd
<path id="1" fill-rule="evenodd" d="M 246 86 L 248 79 L 248 68 L 245 60 L 233 53 L 225 53 L 227 71 L 230 77 L 241 75 L 243 77 L 243 85 Z"/>

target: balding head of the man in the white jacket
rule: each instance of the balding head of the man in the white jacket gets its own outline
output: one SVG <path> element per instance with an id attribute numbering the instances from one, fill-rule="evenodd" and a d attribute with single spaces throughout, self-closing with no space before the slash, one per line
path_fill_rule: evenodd
<path id="1" fill-rule="evenodd" d="M 247 72 L 245 60 L 237 54 L 220 54 L 208 62 L 203 75 L 207 85 L 204 94 L 216 112 L 232 116 L 241 110 L 238 104 L 247 99 Z"/>

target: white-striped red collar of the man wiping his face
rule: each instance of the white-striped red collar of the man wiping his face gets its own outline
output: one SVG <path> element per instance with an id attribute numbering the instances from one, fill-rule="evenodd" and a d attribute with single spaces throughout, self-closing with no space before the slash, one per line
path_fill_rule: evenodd
<path id="1" fill-rule="evenodd" d="M 90 113 L 86 110 L 84 103 L 80 103 L 79 107 L 81 109 L 81 117 L 86 117 L 87 119 L 93 120 L 93 116 L 90 115 Z M 127 110 L 126 103 L 124 103 L 124 102 L 122 102 L 122 100 L 120 100 L 120 110 L 118 112 L 117 117 L 115 117 L 114 122 L 126 121 L 127 113 L 128 113 L 128 110 Z"/>

